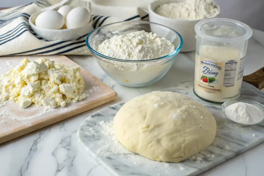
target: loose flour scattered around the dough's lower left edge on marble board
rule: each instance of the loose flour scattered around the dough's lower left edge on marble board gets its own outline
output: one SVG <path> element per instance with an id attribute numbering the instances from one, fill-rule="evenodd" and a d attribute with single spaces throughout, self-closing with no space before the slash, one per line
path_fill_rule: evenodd
<path id="1" fill-rule="evenodd" d="M 127 161 L 132 162 L 135 165 L 144 165 L 147 167 L 159 168 L 163 171 L 165 170 L 167 174 L 170 174 L 169 171 L 171 170 L 175 170 L 175 172 L 179 170 L 186 170 L 187 168 L 184 167 L 183 163 L 202 163 L 208 160 L 213 160 L 215 158 L 215 155 L 217 155 L 217 153 L 201 151 L 200 153 L 183 161 L 183 163 L 167 163 L 149 159 L 147 159 L 148 161 L 146 162 L 146 158 L 127 150 L 119 143 L 114 134 L 113 124 L 113 120 L 109 122 L 101 121 L 96 125 L 93 125 L 89 128 L 89 130 L 86 131 L 88 135 L 92 135 L 92 133 L 95 134 L 96 132 L 102 133 L 102 139 L 99 140 L 99 144 L 101 147 L 96 151 L 96 155 L 99 157 L 125 158 L 127 159 Z"/>

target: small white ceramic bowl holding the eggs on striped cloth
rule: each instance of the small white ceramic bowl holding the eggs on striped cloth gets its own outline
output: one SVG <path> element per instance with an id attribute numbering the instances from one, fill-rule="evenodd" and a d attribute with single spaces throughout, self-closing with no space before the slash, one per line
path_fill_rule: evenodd
<path id="1" fill-rule="evenodd" d="M 35 25 L 35 20 L 37 16 L 41 12 L 34 13 L 33 15 L 30 16 L 29 18 L 29 24 L 33 31 L 42 37 L 45 40 L 48 41 L 54 41 L 54 40 L 62 40 L 62 41 L 67 41 L 67 40 L 75 40 L 78 39 L 81 36 L 88 35 L 89 32 L 93 30 L 92 26 L 92 18 L 89 23 L 82 27 L 78 27 L 75 29 L 43 29 L 40 27 L 37 27 Z"/>

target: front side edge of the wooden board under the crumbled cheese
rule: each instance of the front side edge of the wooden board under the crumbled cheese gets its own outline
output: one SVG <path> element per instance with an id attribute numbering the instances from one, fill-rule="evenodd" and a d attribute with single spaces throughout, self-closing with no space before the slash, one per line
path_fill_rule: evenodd
<path id="1" fill-rule="evenodd" d="M 3 144 L 4 142 L 10 141 L 10 140 L 13 140 L 13 139 L 15 139 L 17 137 L 29 134 L 30 132 L 39 130 L 39 129 L 44 128 L 46 126 L 52 125 L 54 123 L 57 123 L 59 121 L 65 120 L 65 119 L 67 119 L 69 117 L 78 115 L 78 114 L 80 114 L 82 112 L 91 110 L 91 109 L 93 109 L 95 107 L 101 106 L 102 104 L 105 104 L 105 103 L 108 103 L 110 101 L 113 101 L 116 98 L 117 98 L 117 93 L 113 91 L 113 93 L 110 94 L 110 95 L 107 95 L 105 97 L 101 97 L 100 99 L 96 99 L 96 100 L 94 100 L 92 102 L 89 102 L 89 103 L 86 103 L 86 104 L 82 104 L 81 106 L 78 107 L 78 109 L 76 109 L 74 111 L 71 111 L 71 112 L 69 112 L 67 114 L 64 114 L 64 116 L 62 118 L 61 117 L 53 118 L 53 116 L 50 116 L 48 118 L 48 120 L 46 120 L 46 118 L 41 119 L 39 121 L 36 121 L 34 123 L 34 125 L 31 125 L 30 127 L 22 127 L 22 129 L 21 128 L 17 128 L 17 129 L 15 129 L 13 131 L 10 131 L 9 133 L 5 133 L 4 135 L 0 136 L 0 144 Z M 87 106 L 87 104 L 89 104 L 89 106 Z"/>

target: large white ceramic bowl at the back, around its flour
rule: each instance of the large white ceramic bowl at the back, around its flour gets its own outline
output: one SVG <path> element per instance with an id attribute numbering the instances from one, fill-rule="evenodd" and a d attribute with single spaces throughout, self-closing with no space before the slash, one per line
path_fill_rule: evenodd
<path id="1" fill-rule="evenodd" d="M 183 46 L 181 52 L 187 51 L 194 51 L 196 46 L 196 39 L 195 39 L 195 31 L 194 26 L 197 22 L 201 20 L 179 20 L 179 19 L 172 19 L 167 18 L 161 15 L 158 15 L 155 10 L 163 4 L 171 3 L 171 2 L 184 2 L 183 0 L 157 0 L 153 1 L 148 6 L 149 12 L 149 21 L 162 24 L 164 26 L 168 26 L 175 31 L 179 32 L 179 34 L 183 38 Z M 217 6 L 220 12 L 220 7 Z M 217 17 L 218 14 L 214 17 Z M 213 17 L 213 18 L 214 18 Z"/>

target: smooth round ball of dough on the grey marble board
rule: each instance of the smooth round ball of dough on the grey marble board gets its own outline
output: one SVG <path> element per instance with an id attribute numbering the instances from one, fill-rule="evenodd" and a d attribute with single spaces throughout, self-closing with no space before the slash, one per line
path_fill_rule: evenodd
<path id="1" fill-rule="evenodd" d="M 175 92 L 151 92 L 124 104 L 114 133 L 128 150 L 157 161 L 180 162 L 214 141 L 216 122 L 208 109 Z"/>

